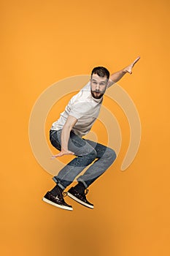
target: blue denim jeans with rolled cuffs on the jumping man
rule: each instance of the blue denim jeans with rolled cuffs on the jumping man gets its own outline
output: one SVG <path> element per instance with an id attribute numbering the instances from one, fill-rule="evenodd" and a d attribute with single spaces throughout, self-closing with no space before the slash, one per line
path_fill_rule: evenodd
<path id="1" fill-rule="evenodd" d="M 50 142 L 59 151 L 61 151 L 61 131 L 62 129 L 58 131 L 50 130 Z M 74 178 L 95 160 L 85 170 L 85 173 L 77 178 L 77 181 L 81 181 L 85 188 L 89 187 L 116 159 L 115 151 L 112 148 L 92 140 L 82 139 L 74 132 L 70 132 L 68 148 L 69 151 L 74 152 L 76 157 L 63 167 L 57 176 L 53 177 L 53 180 L 61 189 L 66 189 L 74 181 Z"/>

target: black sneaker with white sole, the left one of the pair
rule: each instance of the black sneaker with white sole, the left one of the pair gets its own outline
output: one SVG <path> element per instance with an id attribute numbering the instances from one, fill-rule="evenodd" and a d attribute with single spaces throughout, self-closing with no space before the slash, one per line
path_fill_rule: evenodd
<path id="1" fill-rule="evenodd" d="M 72 211 L 72 206 L 69 206 L 64 200 L 63 196 L 65 196 L 65 193 L 60 193 L 56 196 L 52 195 L 50 192 L 47 192 L 47 194 L 42 198 L 43 201 L 46 203 L 50 203 L 52 206 L 56 206 L 58 208 L 62 208 L 65 210 Z"/>

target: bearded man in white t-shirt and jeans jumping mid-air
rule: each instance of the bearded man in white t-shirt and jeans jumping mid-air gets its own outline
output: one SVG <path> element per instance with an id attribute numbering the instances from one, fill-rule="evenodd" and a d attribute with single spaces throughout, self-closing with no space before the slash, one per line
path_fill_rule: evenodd
<path id="1" fill-rule="evenodd" d="M 112 148 L 85 140 L 82 136 L 86 135 L 93 126 L 106 89 L 120 80 L 127 72 L 131 74 L 134 64 L 139 59 L 138 57 L 128 67 L 110 76 L 105 67 L 95 67 L 91 72 L 88 84 L 70 99 L 58 121 L 53 123 L 50 129 L 50 142 L 60 151 L 54 157 L 62 157 L 67 154 L 76 157 L 63 167 L 57 176 L 53 177 L 56 186 L 42 198 L 46 203 L 72 210 L 72 206 L 69 206 L 63 199 L 64 195 L 69 195 L 83 206 L 93 208 L 93 204 L 86 198 L 87 188 L 112 165 L 116 154 Z M 90 166 L 88 167 L 88 165 Z M 79 176 L 85 167 L 88 169 Z M 77 185 L 71 187 L 68 192 L 63 192 L 77 176 Z"/>

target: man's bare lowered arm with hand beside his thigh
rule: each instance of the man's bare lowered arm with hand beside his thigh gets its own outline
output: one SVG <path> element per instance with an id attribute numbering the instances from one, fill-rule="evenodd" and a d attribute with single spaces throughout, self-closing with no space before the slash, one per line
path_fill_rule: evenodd
<path id="1" fill-rule="evenodd" d="M 54 157 L 62 157 L 66 154 L 74 154 L 74 152 L 69 151 L 68 143 L 72 127 L 74 127 L 74 124 L 76 123 L 77 118 L 75 118 L 74 116 L 68 116 L 61 132 L 61 152 L 59 154 L 56 154 Z"/>

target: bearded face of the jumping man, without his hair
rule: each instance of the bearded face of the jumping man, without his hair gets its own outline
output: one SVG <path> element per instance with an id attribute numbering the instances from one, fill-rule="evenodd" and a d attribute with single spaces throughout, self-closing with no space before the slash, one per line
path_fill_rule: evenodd
<path id="1" fill-rule="evenodd" d="M 107 89 L 108 79 L 99 77 L 97 74 L 93 74 L 90 79 L 91 94 L 95 99 L 100 99 Z"/>

